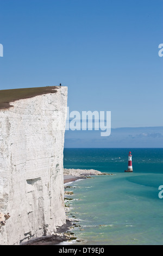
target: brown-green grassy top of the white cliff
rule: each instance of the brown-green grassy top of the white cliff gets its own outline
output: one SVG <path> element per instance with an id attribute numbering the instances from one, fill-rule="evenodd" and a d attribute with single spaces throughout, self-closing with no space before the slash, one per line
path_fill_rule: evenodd
<path id="1" fill-rule="evenodd" d="M 27 99 L 47 93 L 57 93 L 58 86 L 33 87 L 21 89 L 0 90 L 0 109 L 11 107 L 10 102 Z"/>

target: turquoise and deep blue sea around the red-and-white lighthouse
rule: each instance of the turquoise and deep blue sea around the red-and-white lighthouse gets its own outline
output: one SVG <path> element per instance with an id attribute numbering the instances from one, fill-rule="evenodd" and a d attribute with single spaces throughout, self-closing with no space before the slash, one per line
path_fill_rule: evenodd
<path id="1" fill-rule="evenodd" d="M 128 153 L 133 173 L 125 173 Z M 73 245 L 163 245 L 162 148 L 65 148 L 64 168 L 112 175 L 71 182 Z M 159 194 L 160 193 L 160 194 Z M 163 193 L 162 193 L 163 195 Z"/>

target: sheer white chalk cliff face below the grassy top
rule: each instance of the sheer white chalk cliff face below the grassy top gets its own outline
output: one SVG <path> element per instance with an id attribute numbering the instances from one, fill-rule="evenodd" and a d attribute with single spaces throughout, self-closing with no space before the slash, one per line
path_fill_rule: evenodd
<path id="1" fill-rule="evenodd" d="M 63 149 L 67 87 L 0 109 L 0 244 L 19 245 L 66 222 Z"/>

